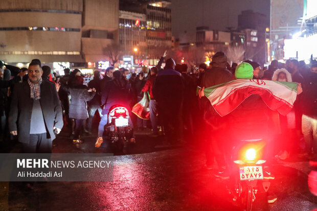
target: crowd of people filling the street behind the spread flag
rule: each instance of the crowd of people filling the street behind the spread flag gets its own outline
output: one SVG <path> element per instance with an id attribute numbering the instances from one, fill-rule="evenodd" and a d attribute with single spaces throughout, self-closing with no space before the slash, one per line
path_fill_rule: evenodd
<path id="1" fill-rule="evenodd" d="M 206 102 L 196 96 L 196 89 L 197 86 L 211 87 L 239 78 L 241 73 L 236 72 L 236 68 L 239 67 L 238 64 L 233 63 L 230 66 L 225 54 L 218 52 L 213 56 L 209 67 L 202 63 L 197 65 L 197 68 L 189 71 L 187 64 L 175 64 L 175 61 L 169 58 L 166 59 L 165 67 L 162 69 L 161 65 L 165 57 L 166 55 L 160 59 L 159 64 L 150 69 L 142 67 L 140 73 L 131 73 L 125 68 L 115 71 L 114 67 L 108 67 L 104 75 L 95 71 L 94 79 L 90 80 L 87 85 L 84 85 L 84 77 L 87 76 L 81 74 L 79 69 L 71 71 L 66 68 L 64 69 L 64 76 L 59 77 L 51 74 L 49 66 L 41 66 L 40 61 L 35 59 L 30 63 L 28 69 L 14 69 L 12 72 L 15 73 L 13 74 L 15 77 L 11 77 L 9 68 L 5 68 L 4 63 L 1 62 L 0 85 L 2 91 L 0 108 L 2 118 L 0 130 L 2 137 L 3 139 L 10 139 L 10 135 L 6 131 L 11 132 L 11 138 L 12 135 L 16 134 L 19 136 L 18 130 L 21 130 L 19 140 L 23 139 L 22 142 L 28 142 L 30 137 L 26 138 L 22 134 L 30 131 L 32 131 L 30 134 L 48 133 L 48 137 L 53 140 L 52 137 L 55 137 L 55 133 L 62 129 L 62 124 L 57 125 L 57 122 L 63 122 L 64 129 L 69 128 L 72 142 L 81 144 L 83 143 L 82 133 L 91 134 L 93 132 L 93 120 L 97 113 L 97 116 L 100 116 L 100 122 L 95 147 L 100 147 L 103 142 L 103 129 L 107 124 L 109 108 L 112 105 L 120 104 L 129 109 L 130 116 L 132 116 L 129 124 L 132 127 L 134 125 L 134 130 L 152 130 L 151 135 L 153 136 L 165 134 L 163 136 L 165 137 L 162 142 L 163 146 L 190 143 L 196 139 L 204 140 L 206 143 L 218 142 L 219 137 L 215 138 L 217 135 L 214 135 L 211 131 L 212 128 L 221 127 L 221 123 L 215 118 L 217 114 L 212 111 L 210 102 L 205 105 Z M 253 79 L 255 80 L 297 82 L 303 87 L 304 91 L 296 100 L 293 110 L 286 116 L 279 115 L 278 121 L 272 123 L 274 127 L 278 128 L 274 138 L 280 138 L 281 140 L 276 143 L 279 146 L 276 157 L 287 159 L 291 153 L 300 153 L 301 156 L 315 153 L 317 149 L 317 62 L 312 60 L 310 64 L 306 65 L 303 61 L 299 62 L 296 59 L 291 59 L 284 64 L 273 60 L 267 69 L 262 68 L 255 61 L 246 60 L 244 63 L 247 64 L 245 64 L 244 71 L 252 69 Z M 33 67 L 36 67 L 35 70 Z M 39 75 L 34 76 L 33 81 L 36 84 L 35 79 L 40 80 L 40 92 L 36 92 L 37 85 L 32 85 L 32 73 L 35 71 L 39 71 L 40 77 Z M 25 87 L 22 87 L 19 82 L 24 84 Z M 18 85 L 14 86 L 15 83 L 18 83 Z M 50 102 L 44 100 L 48 97 L 49 92 L 45 94 L 46 97 L 42 97 L 42 90 L 46 90 L 41 88 L 42 84 L 49 84 L 47 86 L 50 87 L 51 91 L 50 100 L 55 99 L 52 98 L 55 91 L 58 93 L 57 99 L 59 105 L 61 105 L 61 112 L 59 112 L 59 108 L 57 109 L 55 101 L 51 102 L 49 106 L 55 105 L 52 108 L 56 114 L 55 116 L 47 116 L 46 108 L 42 107 L 44 105 L 43 101 Z M 54 87 L 54 90 L 52 90 L 52 87 Z M 21 96 L 20 92 L 22 90 L 29 89 L 31 89 L 31 94 Z M 35 92 L 32 93 L 32 90 L 35 90 Z M 131 113 L 133 105 L 139 102 L 146 92 L 149 95 L 150 120 L 141 119 Z M 27 95 L 27 93 L 25 94 Z M 38 97 L 39 94 L 40 97 Z M 20 101 L 24 102 L 24 97 L 33 99 L 33 104 L 27 104 L 29 107 L 23 107 L 22 110 L 28 109 L 29 113 L 22 116 L 25 118 L 23 121 L 19 121 L 19 118 L 22 118 L 21 113 L 19 113 L 21 112 L 19 108 Z M 16 102 L 17 99 L 19 99 L 18 102 Z M 38 110 L 34 108 L 39 107 L 42 107 L 42 115 L 33 112 Z M 261 116 L 264 114 L 253 113 L 252 115 L 261 120 Z M 38 118 L 38 116 L 41 116 L 41 118 Z M 58 118 L 61 118 L 60 116 L 63 116 L 61 122 L 60 120 L 57 121 Z M 46 118 L 53 119 L 54 129 L 53 127 L 48 128 L 49 123 Z M 27 120 L 30 123 L 30 131 L 25 126 Z M 38 122 L 44 122 L 44 126 L 35 127 L 36 130 L 33 131 L 32 128 Z M 19 124 L 24 126 L 19 126 Z M 260 132 L 261 130 L 263 130 L 263 127 L 259 125 L 256 131 Z M 301 138 L 304 139 L 304 142 L 300 142 Z M 209 146 L 209 144 L 207 145 Z M 207 167 L 214 165 L 214 158 L 211 155 L 217 157 L 221 154 L 221 151 L 215 150 L 217 147 L 211 146 L 205 148 Z"/>

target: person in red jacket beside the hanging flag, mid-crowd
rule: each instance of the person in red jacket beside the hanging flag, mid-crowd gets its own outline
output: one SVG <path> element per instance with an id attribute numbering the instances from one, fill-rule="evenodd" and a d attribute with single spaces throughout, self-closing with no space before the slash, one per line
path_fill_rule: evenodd
<path id="1" fill-rule="evenodd" d="M 150 78 L 146 81 L 142 91 L 143 92 L 149 92 L 150 93 L 150 119 L 151 119 L 151 124 L 152 124 L 152 130 L 153 130 L 153 135 L 159 135 L 159 130 L 157 130 L 157 102 L 155 101 L 153 97 L 153 92 L 152 92 L 152 87 L 154 80 L 156 78 L 156 74 L 158 72 L 157 67 L 152 67 L 151 70 L 151 76 Z"/>

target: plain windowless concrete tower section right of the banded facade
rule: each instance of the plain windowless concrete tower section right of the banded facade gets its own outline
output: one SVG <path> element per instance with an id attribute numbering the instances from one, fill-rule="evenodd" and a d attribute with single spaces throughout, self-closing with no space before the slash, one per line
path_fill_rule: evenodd
<path id="1" fill-rule="evenodd" d="M 82 54 L 86 62 L 108 60 L 107 45 L 119 44 L 119 0 L 82 0 Z"/>

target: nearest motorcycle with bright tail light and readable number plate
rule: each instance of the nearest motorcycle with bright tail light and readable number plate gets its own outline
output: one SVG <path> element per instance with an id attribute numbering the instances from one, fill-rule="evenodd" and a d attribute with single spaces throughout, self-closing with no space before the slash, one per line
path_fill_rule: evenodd
<path id="1" fill-rule="evenodd" d="M 266 192 L 269 189 L 270 182 L 263 178 L 263 148 L 264 140 L 256 142 L 242 142 L 242 147 L 236 148 L 238 152 L 234 171 L 234 188 L 232 191 L 233 200 L 243 211 L 252 210 L 254 202 L 258 199 L 260 208 L 267 206 Z M 261 197 L 258 197 L 261 195 Z M 264 203 L 264 204 L 263 204 Z"/>

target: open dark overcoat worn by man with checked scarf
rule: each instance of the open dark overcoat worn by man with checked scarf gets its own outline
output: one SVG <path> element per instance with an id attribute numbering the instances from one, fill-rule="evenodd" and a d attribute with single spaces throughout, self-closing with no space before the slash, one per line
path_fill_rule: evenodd
<path id="1" fill-rule="evenodd" d="M 53 127 L 63 127 L 62 108 L 57 96 L 54 83 L 42 81 L 40 85 L 40 105 L 44 123 L 47 127 L 48 138 L 55 139 Z M 9 113 L 9 130 L 17 131 L 21 143 L 30 141 L 30 125 L 33 108 L 31 90 L 28 81 L 17 83 L 14 86 Z"/>

